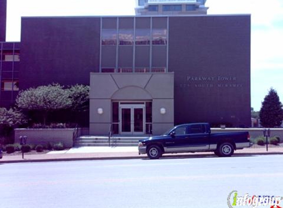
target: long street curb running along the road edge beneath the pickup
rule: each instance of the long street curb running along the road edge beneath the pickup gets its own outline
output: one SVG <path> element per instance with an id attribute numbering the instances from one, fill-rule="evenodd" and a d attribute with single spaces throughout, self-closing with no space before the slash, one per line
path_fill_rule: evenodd
<path id="1" fill-rule="evenodd" d="M 235 153 L 232 157 L 238 156 L 256 156 L 256 155 L 283 155 L 283 152 L 257 152 L 257 153 Z M 218 157 L 214 154 L 196 154 L 196 155 L 180 155 L 171 154 L 164 155 L 161 159 L 174 159 L 174 158 L 207 158 Z M 146 155 L 140 156 L 110 156 L 110 157 L 86 157 L 86 158 L 54 158 L 54 159 L 22 159 L 22 160 L 7 160 L 1 161 L 0 164 L 5 163 L 36 163 L 36 162 L 68 162 L 68 161 L 86 161 L 86 160 L 124 160 L 124 159 L 146 159 L 150 160 Z"/>

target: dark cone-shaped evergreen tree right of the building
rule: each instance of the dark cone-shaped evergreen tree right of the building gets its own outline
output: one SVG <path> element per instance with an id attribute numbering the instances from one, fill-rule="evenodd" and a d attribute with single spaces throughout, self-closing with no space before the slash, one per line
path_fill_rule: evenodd
<path id="1" fill-rule="evenodd" d="M 259 111 L 260 124 L 268 128 L 281 126 L 283 120 L 282 107 L 276 90 L 271 88 Z"/>

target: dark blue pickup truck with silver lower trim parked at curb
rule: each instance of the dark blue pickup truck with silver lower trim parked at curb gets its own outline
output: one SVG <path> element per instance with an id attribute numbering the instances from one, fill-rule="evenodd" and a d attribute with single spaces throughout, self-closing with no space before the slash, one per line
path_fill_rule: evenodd
<path id="1" fill-rule="evenodd" d="M 158 159 L 163 153 L 213 151 L 219 157 L 229 157 L 234 150 L 250 147 L 248 132 L 211 133 L 208 123 L 182 124 L 165 134 L 139 140 L 139 154 Z"/>

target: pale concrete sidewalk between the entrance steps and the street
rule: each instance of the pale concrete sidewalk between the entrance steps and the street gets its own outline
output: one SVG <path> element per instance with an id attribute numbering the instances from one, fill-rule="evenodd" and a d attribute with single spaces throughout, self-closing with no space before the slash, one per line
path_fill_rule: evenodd
<path id="1" fill-rule="evenodd" d="M 268 152 L 265 148 L 244 148 L 237 150 L 235 156 L 254 156 L 282 154 L 283 147 L 270 147 Z M 233 157 L 232 156 L 232 157 Z M 196 158 L 196 157 L 217 157 L 212 152 L 199 153 L 179 153 L 164 154 L 162 158 Z M 75 161 L 75 160 L 110 160 L 110 159 L 145 159 L 146 155 L 139 155 L 137 147 L 81 147 L 72 148 L 68 151 L 51 151 L 47 154 L 26 154 L 25 159 L 22 155 L 3 155 L 1 163 L 19 163 L 19 162 L 49 162 L 49 161 Z"/>

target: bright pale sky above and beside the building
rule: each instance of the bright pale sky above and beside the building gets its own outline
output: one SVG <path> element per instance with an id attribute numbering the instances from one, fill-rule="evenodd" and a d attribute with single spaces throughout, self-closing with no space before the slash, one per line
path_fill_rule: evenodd
<path id="1" fill-rule="evenodd" d="M 98 3 L 99 2 L 99 3 Z M 251 107 L 272 87 L 283 102 L 283 0 L 207 0 L 207 14 L 251 14 Z M 6 41 L 20 41 L 22 16 L 134 15 L 135 0 L 7 0 Z"/>

